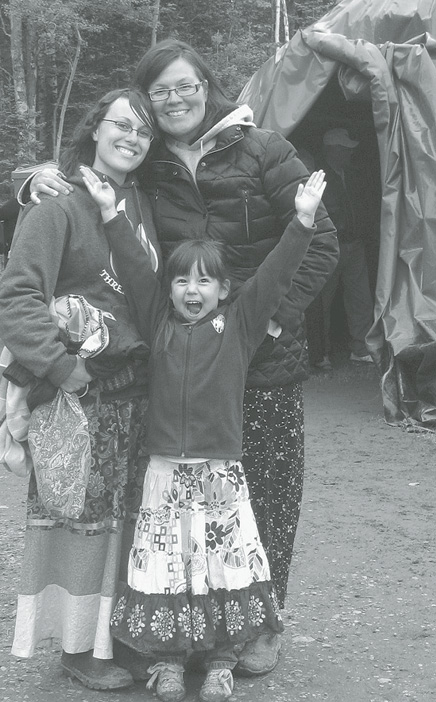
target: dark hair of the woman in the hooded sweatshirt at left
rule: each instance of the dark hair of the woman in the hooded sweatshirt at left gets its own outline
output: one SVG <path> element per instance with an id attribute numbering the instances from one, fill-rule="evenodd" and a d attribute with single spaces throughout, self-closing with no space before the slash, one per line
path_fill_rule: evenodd
<path id="1" fill-rule="evenodd" d="M 110 106 L 119 98 L 127 98 L 135 115 L 150 128 L 153 134 L 157 133 L 148 96 L 136 88 L 111 90 L 103 95 L 82 118 L 74 130 L 69 147 L 62 152 L 59 168 L 66 176 L 73 175 L 80 163 L 92 166 L 96 147 L 92 135 L 106 116 Z"/>

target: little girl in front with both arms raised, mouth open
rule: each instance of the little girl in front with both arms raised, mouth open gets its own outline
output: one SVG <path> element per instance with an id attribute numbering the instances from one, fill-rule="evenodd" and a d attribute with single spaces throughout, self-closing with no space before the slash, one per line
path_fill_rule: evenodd
<path id="1" fill-rule="evenodd" d="M 167 262 L 170 306 L 150 268 L 144 275 L 144 254 L 108 184 L 89 171 L 84 179 L 138 328 L 147 341 L 152 335 L 150 463 L 112 631 L 154 654 L 150 683 L 164 702 L 183 699 L 186 654 L 205 651 L 200 699 L 222 702 L 233 688 L 235 645 L 283 629 L 240 462 L 242 406 L 249 362 L 315 230 L 324 174 L 299 186 L 297 215 L 233 301 L 223 248 L 180 244 Z M 151 319 L 145 299 L 154 301 Z"/>

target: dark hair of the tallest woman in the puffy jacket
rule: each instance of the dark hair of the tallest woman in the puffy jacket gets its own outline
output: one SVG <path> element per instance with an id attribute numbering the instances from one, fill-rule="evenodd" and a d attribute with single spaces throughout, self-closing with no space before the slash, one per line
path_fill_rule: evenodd
<path id="1" fill-rule="evenodd" d="M 226 96 L 206 62 L 192 46 L 178 39 L 163 39 L 158 42 L 138 63 L 133 84 L 148 93 L 150 85 L 159 78 L 162 71 L 179 58 L 190 63 L 198 78 L 207 80 L 208 83 L 206 113 L 199 133 L 195 137 L 197 139 L 238 105 Z"/>

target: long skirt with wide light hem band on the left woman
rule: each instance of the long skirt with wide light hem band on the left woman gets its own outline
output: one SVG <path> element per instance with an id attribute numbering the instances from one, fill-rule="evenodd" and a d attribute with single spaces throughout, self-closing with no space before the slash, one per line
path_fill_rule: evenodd
<path id="1" fill-rule="evenodd" d="M 93 649 L 98 658 L 112 658 L 110 618 L 120 578 L 126 582 L 148 463 L 147 399 L 102 401 L 97 393 L 82 406 L 92 466 L 81 517 L 53 519 L 41 504 L 34 473 L 30 477 L 12 647 L 20 658 L 49 639 L 60 639 L 67 653 Z"/>

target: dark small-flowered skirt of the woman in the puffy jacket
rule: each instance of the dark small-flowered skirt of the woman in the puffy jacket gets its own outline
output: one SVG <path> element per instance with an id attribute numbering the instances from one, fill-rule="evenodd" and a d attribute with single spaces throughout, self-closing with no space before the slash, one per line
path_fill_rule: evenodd
<path id="1" fill-rule="evenodd" d="M 303 388 L 249 389 L 243 463 L 280 607 L 284 607 L 304 476 Z"/>

